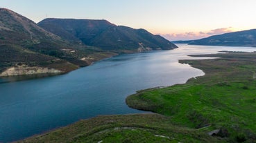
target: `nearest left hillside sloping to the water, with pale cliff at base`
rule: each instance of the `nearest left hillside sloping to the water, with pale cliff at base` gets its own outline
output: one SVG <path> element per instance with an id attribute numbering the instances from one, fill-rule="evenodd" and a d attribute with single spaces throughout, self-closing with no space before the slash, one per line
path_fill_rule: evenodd
<path id="1" fill-rule="evenodd" d="M 0 76 L 66 73 L 117 55 L 71 44 L 6 8 L 0 8 L 0 53 Z"/>

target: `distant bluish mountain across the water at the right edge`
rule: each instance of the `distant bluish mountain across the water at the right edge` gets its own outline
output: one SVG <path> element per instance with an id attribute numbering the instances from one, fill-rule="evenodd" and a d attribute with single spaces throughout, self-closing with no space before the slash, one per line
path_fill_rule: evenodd
<path id="1" fill-rule="evenodd" d="M 189 44 L 209 46 L 256 46 L 256 29 L 228 32 L 223 35 L 193 40 Z"/>

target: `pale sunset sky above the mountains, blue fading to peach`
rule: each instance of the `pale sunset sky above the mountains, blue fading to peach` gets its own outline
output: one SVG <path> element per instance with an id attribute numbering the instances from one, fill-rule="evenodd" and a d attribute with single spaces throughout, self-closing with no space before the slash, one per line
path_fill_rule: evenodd
<path id="1" fill-rule="evenodd" d="M 256 28 L 255 0 L 0 0 L 36 23 L 45 18 L 106 19 L 174 40 Z"/>

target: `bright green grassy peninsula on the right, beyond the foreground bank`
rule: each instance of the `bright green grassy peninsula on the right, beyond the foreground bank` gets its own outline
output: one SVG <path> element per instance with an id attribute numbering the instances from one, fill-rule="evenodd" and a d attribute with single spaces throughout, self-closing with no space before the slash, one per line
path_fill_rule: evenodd
<path id="1" fill-rule="evenodd" d="M 127 104 L 170 116 L 180 126 L 225 129 L 229 142 L 256 142 L 256 54 L 215 56 L 222 58 L 180 61 L 202 69 L 205 76 L 138 92 L 126 99 Z"/>

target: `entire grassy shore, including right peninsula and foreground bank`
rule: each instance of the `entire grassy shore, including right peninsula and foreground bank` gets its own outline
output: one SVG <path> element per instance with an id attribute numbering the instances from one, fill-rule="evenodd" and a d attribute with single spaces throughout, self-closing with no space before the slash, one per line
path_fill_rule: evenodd
<path id="1" fill-rule="evenodd" d="M 126 99 L 152 114 L 94 117 L 20 142 L 256 142 L 256 53 L 196 56 L 220 58 L 181 60 L 205 75 Z"/>

